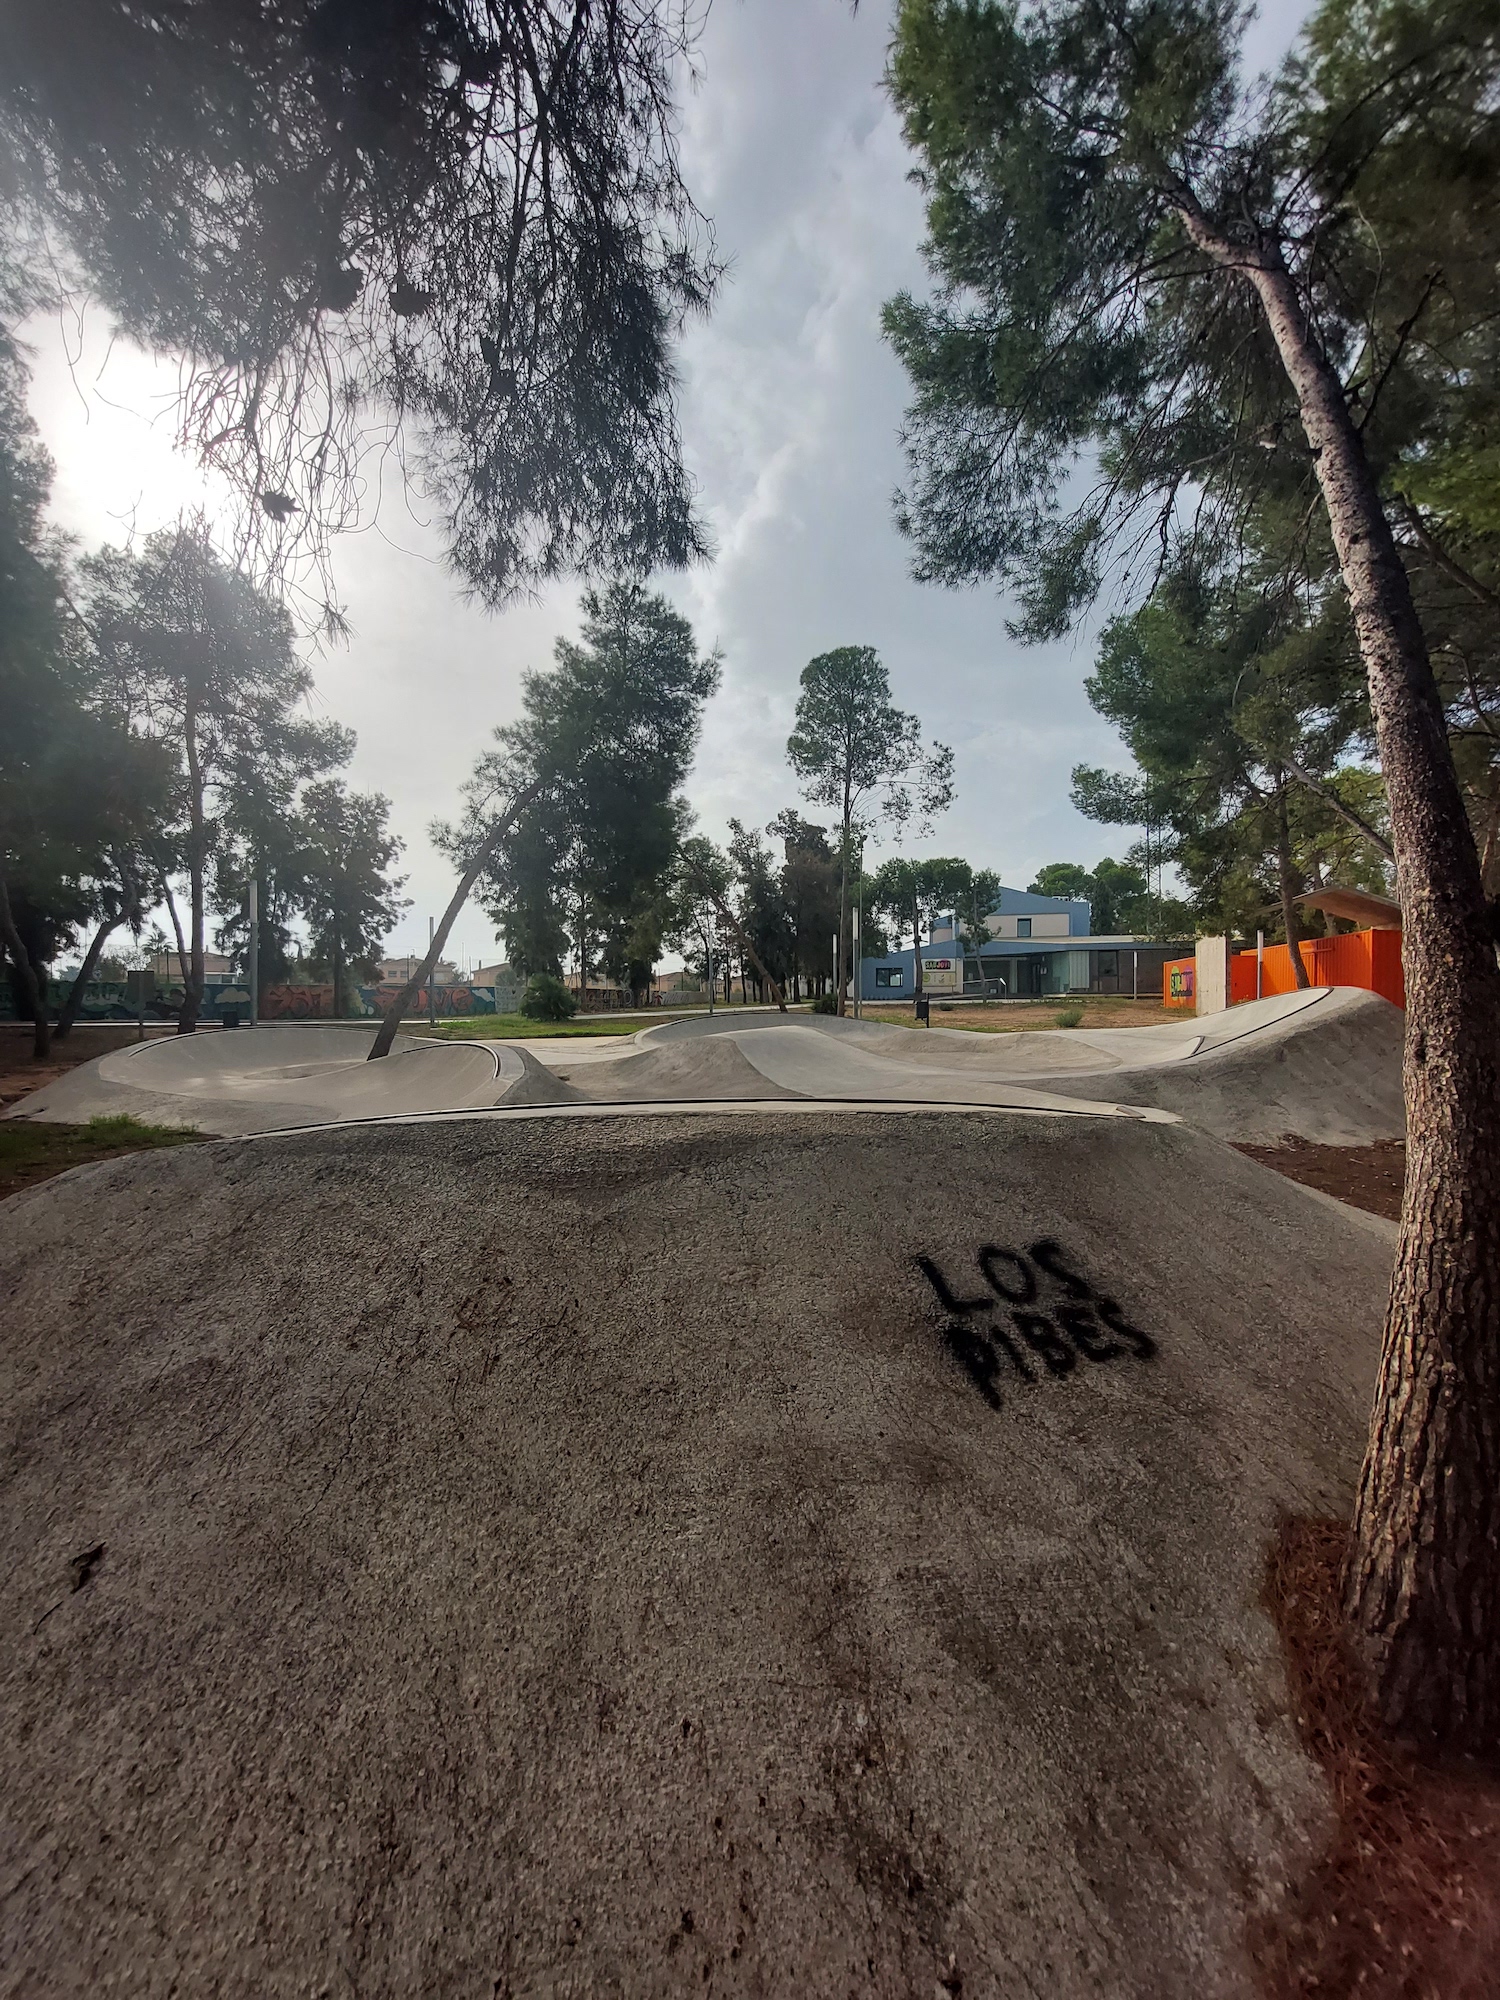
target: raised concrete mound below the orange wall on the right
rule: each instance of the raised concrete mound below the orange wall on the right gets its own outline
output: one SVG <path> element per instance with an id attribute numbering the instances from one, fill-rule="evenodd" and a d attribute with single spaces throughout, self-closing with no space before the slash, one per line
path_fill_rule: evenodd
<path id="1" fill-rule="evenodd" d="M 1204 1132 L 1262 1146 L 1282 1138 L 1322 1146 L 1406 1138 L 1406 1016 L 1378 994 L 1344 986 L 1314 998 L 1316 1008 L 1254 1024 L 1252 1032 L 1238 1020 L 1248 1008 L 1214 1014 L 1200 1022 L 1206 1036 L 1194 1056 L 1158 1068 L 1126 1066 L 1108 1084 L 1094 1078 L 1090 1094 L 1150 1104 Z M 1070 1078 L 1052 1078 L 1048 1090 L 1084 1094 Z"/>

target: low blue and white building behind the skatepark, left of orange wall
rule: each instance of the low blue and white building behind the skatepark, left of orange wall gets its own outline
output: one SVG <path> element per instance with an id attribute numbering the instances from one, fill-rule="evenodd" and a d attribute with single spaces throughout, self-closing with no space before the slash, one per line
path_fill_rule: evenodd
<path id="1" fill-rule="evenodd" d="M 984 938 L 968 942 L 958 918 L 932 926 L 922 946 L 922 992 L 934 1000 L 1028 1000 L 1044 994 L 1142 994 L 1162 990 L 1162 964 L 1182 944 L 1134 936 L 1096 938 L 1088 904 L 1002 888 L 984 918 Z M 978 950 L 974 944 L 978 942 Z M 916 954 L 860 960 L 862 1000 L 910 1000 Z"/>

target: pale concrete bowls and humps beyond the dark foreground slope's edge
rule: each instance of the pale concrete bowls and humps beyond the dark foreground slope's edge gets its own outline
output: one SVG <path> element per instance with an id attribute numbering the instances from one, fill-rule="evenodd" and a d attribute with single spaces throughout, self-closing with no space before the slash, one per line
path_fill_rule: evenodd
<path id="1" fill-rule="evenodd" d="M 630 1036 L 398 1038 L 366 1064 L 366 1026 L 204 1032 L 120 1050 L 12 1116 L 138 1118 L 204 1132 L 538 1102 L 836 1098 L 1180 1116 L 1220 1138 L 1358 1144 L 1404 1132 L 1402 1014 L 1314 988 L 1152 1028 L 976 1034 L 816 1014 L 718 1014 Z"/>

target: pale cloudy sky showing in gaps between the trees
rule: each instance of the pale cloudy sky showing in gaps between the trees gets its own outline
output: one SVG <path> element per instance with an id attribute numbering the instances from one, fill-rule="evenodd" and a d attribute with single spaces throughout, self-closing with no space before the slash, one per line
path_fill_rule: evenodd
<path id="1" fill-rule="evenodd" d="M 1306 12 L 1272 0 L 1246 40 L 1258 70 Z M 920 290 L 922 204 L 882 94 L 888 10 L 864 0 L 714 0 L 700 84 L 682 106 L 684 166 L 730 274 L 682 354 L 684 434 L 716 558 L 660 586 L 724 652 L 688 794 L 702 828 L 764 824 L 798 800 L 786 768 L 796 680 L 830 646 L 876 646 L 898 702 L 956 752 L 958 798 L 924 842 L 1024 886 L 1048 860 L 1092 864 L 1120 830 L 1068 804 L 1078 762 L 1124 766 L 1084 696 L 1088 636 L 1022 648 L 992 590 L 908 576 L 892 526 L 902 372 L 880 306 Z M 172 452 L 172 368 L 120 344 L 98 312 L 30 328 L 34 396 L 58 462 L 54 512 L 84 542 L 176 518 L 202 488 Z M 314 660 L 318 702 L 358 732 L 350 778 L 392 800 L 412 908 L 392 950 L 426 944 L 452 874 L 426 838 L 454 810 L 520 674 L 576 630 L 576 592 L 498 616 L 464 604 L 432 524 L 400 492 L 336 548 L 348 648 Z M 496 954 L 466 912 L 450 954 Z"/>

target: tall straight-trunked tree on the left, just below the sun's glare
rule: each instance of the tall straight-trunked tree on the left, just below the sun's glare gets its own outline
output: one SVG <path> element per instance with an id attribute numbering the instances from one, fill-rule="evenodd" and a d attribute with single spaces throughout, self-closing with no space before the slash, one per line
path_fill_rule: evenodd
<path id="1" fill-rule="evenodd" d="M 292 788 L 348 762 L 352 738 L 300 714 L 312 674 L 292 620 L 216 552 L 208 524 L 148 536 L 140 554 L 84 564 L 86 618 L 120 702 L 178 766 L 180 856 L 188 878 L 186 998 L 198 1026 L 212 858 L 236 800 Z M 166 892 L 166 884 L 164 884 Z M 172 922 L 176 902 L 166 892 Z"/>

